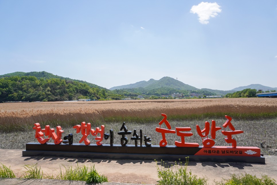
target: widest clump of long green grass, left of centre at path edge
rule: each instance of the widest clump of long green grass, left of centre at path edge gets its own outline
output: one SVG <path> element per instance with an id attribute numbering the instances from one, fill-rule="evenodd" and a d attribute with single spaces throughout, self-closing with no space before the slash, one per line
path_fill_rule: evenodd
<path id="1" fill-rule="evenodd" d="M 90 169 L 88 166 L 77 166 L 72 167 L 65 167 L 65 169 L 62 171 L 60 168 L 59 175 L 56 179 L 61 180 L 80 180 L 80 181 L 86 181 L 87 183 L 102 183 L 102 182 L 108 182 L 108 179 L 106 176 L 102 175 L 100 176 L 98 172 L 96 171 L 94 165 L 90 166 Z"/>

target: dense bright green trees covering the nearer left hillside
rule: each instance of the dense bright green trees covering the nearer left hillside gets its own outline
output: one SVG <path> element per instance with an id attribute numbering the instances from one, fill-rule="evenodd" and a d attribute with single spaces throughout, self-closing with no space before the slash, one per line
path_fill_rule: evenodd
<path id="1" fill-rule="evenodd" d="M 0 102 L 5 101 L 67 101 L 78 98 L 107 98 L 107 90 L 59 78 L 11 76 L 0 78 Z"/>

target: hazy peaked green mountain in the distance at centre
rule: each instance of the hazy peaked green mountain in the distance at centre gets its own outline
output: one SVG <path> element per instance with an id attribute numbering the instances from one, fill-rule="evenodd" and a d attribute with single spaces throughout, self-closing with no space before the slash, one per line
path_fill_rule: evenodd
<path id="1" fill-rule="evenodd" d="M 198 88 L 196 87 L 190 86 L 188 84 L 184 84 L 183 82 L 180 82 L 179 80 L 176 80 L 168 76 L 165 76 L 160 80 L 150 79 L 148 81 L 140 81 L 134 84 L 116 86 L 116 87 L 110 88 L 110 90 L 123 89 L 123 88 L 130 89 L 130 88 L 139 88 L 139 87 L 146 88 L 148 90 L 165 88 L 165 87 L 173 88 L 176 90 L 198 90 Z"/>

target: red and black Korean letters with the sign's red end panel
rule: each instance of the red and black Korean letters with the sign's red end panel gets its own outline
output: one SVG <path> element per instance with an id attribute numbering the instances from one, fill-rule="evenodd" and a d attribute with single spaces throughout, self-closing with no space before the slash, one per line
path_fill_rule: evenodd
<path id="1" fill-rule="evenodd" d="M 163 119 L 159 122 L 159 127 L 155 130 L 158 133 L 161 133 L 162 139 L 159 142 L 159 147 L 167 147 L 167 140 L 165 134 L 177 134 L 180 137 L 179 140 L 175 141 L 175 147 L 184 147 L 184 148 L 194 148 L 194 153 L 191 155 L 215 155 L 215 156 L 251 156 L 251 157 L 260 157 L 260 149 L 258 147 L 237 147 L 237 141 L 232 137 L 236 134 L 241 134 L 243 131 L 236 130 L 235 127 L 232 125 L 231 120 L 232 118 L 225 115 L 227 119 L 226 122 L 222 125 L 223 128 L 217 127 L 216 122 L 212 120 L 212 123 L 205 122 L 204 128 L 201 130 L 200 126 L 196 125 L 196 131 L 198 135 L 202 138 L 203 146 L 199 146 L 198 143 L 189 143 L 186 142 L 186 137 L 190 137 L 193 135 L 192 130 L 190 127 L 175 127 L 175 130 L 171 128 L 171 125 L 167 121 L 167 116 L 165 114 L 161 114 Z M 165 125 L 165 128 L 162 128 L 162 125 Z M 82 122 L 81 125 L 73 126 L 76 129 L 76 133 L 81 133 L 83 136 L 79 143 L 84 143 L 85 145 L 91 145 L 91 141 L 88 140 L 88 136 L 91 134 L 95 136 L 95 142 L 97 146 L 102 146 L 102 141 L 105 138 L 107 140 L 110 138 L 110 146 L 113 146 L 114 142 L 114 133 L 113 129 L 110 130 L 110 134 L 105 133 L 105 126 L 102 125 L 101 128 L 97 127 L 94 129 L 91 128 L 90 123 Z M 40 144 L 47 143 L 51 138 L 54 140 L 54 144 L 72 144 L 73 143 L 73 134 L 69 134 L 68 136 L 64 137 L 64 141 L 62 138 L 62 133 L 64 132 L 60 126 L 56 127 L 56 133 L 54 128 L 50 128 L 49 125 L 45 126 L 44 129 L 41 129 L 40 124 L 34 124 L 33 129 L 36 130 L 35 138 L 38 140 Z M 222 130 L 223 129 L 223 130 Z M 225 130 L 226 129 L 226 130 Z M 228 130 L 227 130 L 228 129 Z M 214 139 L 217 133 L 225 135 L 225 142 L 232 144 L 232 147 L 226 146 L 214 146 L 215 142 Z M 128 137 L 126 135 L 131 134 L 132 131 L 128 131 L 125 122 L 122 124 L 120 128 L 120 132 L 117 134 L 121 136 L 120 142 L 121 146 L 128 147 L 126 145 L 128 143 Z M 140 129 L 139 134 L 134 130 L 133 137 L 131 140 L 134 140 L 135 147 L 138 147 L 138 141 L 140 141 L 140 147 L 143 147 L 143 134 L 142 129 Z M 210 136 L 209 136 L 210 134 Z M 44 138 L 44 136 L 48 136 L 48 138 Z M 68 139 L 68 140 L 65 140 Z M 144 142 L 145 147 L 151 147 L 151 137 L 147 137 L 144 135 Z M 105 147 L 105 146 L 103 146 Z M 171 146 L 173 147 L 173 146 Z"/>

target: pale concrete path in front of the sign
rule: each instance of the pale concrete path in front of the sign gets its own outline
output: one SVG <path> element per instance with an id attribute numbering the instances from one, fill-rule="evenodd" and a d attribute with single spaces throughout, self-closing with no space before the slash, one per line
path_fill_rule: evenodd
<path id="1" fill-rule="evenodd" d="M 184 156 L 185 157 L 185 156 Z M 214 162 L 192 162 L 188 164 L 188 170 L 198 177 L 206 176 L 208 183 L 214 184 L 214 180 L 220 181 L 222 178 L 230 178 L 231 174 L 251 174 L 261 177 L 268 175 L 277 180 L 277 156 L 265 156 L 266 164 L 258 163 L 214 163 Z M 182 159 L 182 160 L 185 160 Z M 15 175 L 19 178 L 26 169 L 24 165 L 34 165 L 37 163 L 44 174 L 56 175 L 60 167 L 75 165 L 95 165 L 95 169 L 108 177 L 109 183 L 105 184 L 157 184 L 157 165 L 161 167 L 161 162 L 142 160 L 111 160 L 111 159 L 84 159 L 84 158 L 64 158 L 64 157 L 44 157 L 44 156 L 22 156 L 22 150 L 0 149 L 0 163 L 11 167 Z M 167 166 L 173 165 L 174 161 L 165 161 Z M 22 184 L 19 180 L 0 180 L 1 184 Z M 46 182 L 45 182 L 46 181 Z M 41 180 L 45 184 L 49 180 Z M 9 182 L 9 183 L 8 183 Z M 114 182 L 114 183 L 110 183 Z M 37 184 L 38 180 L 28 180 L 26 184 Z M 58 184 L 61 184 L 60 181 Z M 83 182 L 65 182 L 65 184 L 85 184 Z"/>

